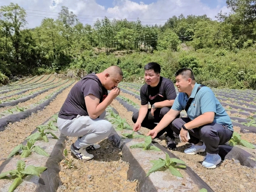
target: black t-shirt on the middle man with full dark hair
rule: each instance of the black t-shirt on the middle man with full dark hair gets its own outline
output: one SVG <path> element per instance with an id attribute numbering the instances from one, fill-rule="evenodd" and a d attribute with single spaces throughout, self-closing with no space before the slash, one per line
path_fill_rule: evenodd
<path id="1" fill-rule="evenodd" d="M 177 94 L 174 83 L 170 79 L 160 77 L 158 85 L 154 88 L 148 86 L 146 83 L 140 88 L 141 104 L 145 105 L 148 102 L 154 104 L 164 100 L 175 100 Z"/>

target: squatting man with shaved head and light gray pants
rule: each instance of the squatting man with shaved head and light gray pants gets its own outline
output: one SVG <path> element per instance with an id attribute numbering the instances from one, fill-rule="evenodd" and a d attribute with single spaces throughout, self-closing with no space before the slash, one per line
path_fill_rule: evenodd
<path id="1" fill-rule="evenodd" d="M 83 77 L 70 90 L 58 114 L 57 125 L 63 135 L 77 137 L 71 152 L 78 159 L 92 159 L 94 156 L 87 150 L 99 148 L 95 143 L 110 135 L 112 124 L 104 120 L 105 109 L 119 95 L 117 86 L 122 78 L 121 69 L 111 66 L 102 73 Z"/>

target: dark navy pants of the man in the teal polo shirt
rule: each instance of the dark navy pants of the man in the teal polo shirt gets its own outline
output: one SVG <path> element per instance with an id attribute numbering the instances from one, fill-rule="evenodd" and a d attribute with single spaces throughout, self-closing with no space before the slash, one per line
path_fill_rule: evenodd
<path id="1" fill-rule="evenodd" d="M 173 120 L 172 130 L 179 135 L 181 126 L 189 121 L 190 119 L 187 117 Z M 197 144 L 202 140 L 206 146 L 206 152 L 210 154 L 218 154 L 218 145 L 229 141 L 233 135 L 233 132 L 227 126 L 214 122 L 188 130 L 188 133 L 190 136 L 189 143 Z"/>

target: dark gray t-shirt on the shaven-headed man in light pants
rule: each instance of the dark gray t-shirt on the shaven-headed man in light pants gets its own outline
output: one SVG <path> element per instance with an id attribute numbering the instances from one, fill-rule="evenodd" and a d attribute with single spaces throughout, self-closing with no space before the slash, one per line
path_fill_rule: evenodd
<path id="1" fill-rule="evenodd" d="M 92 94 L 102 102 L 108 96 L 106 90 L 95 73 L 91 73 L 78 81 L 70 90 L 69 95 L 63 103 L 58 117 L 61 119 L 74 119 L 77 115 L 89 116 L 84 97 Z"/>

